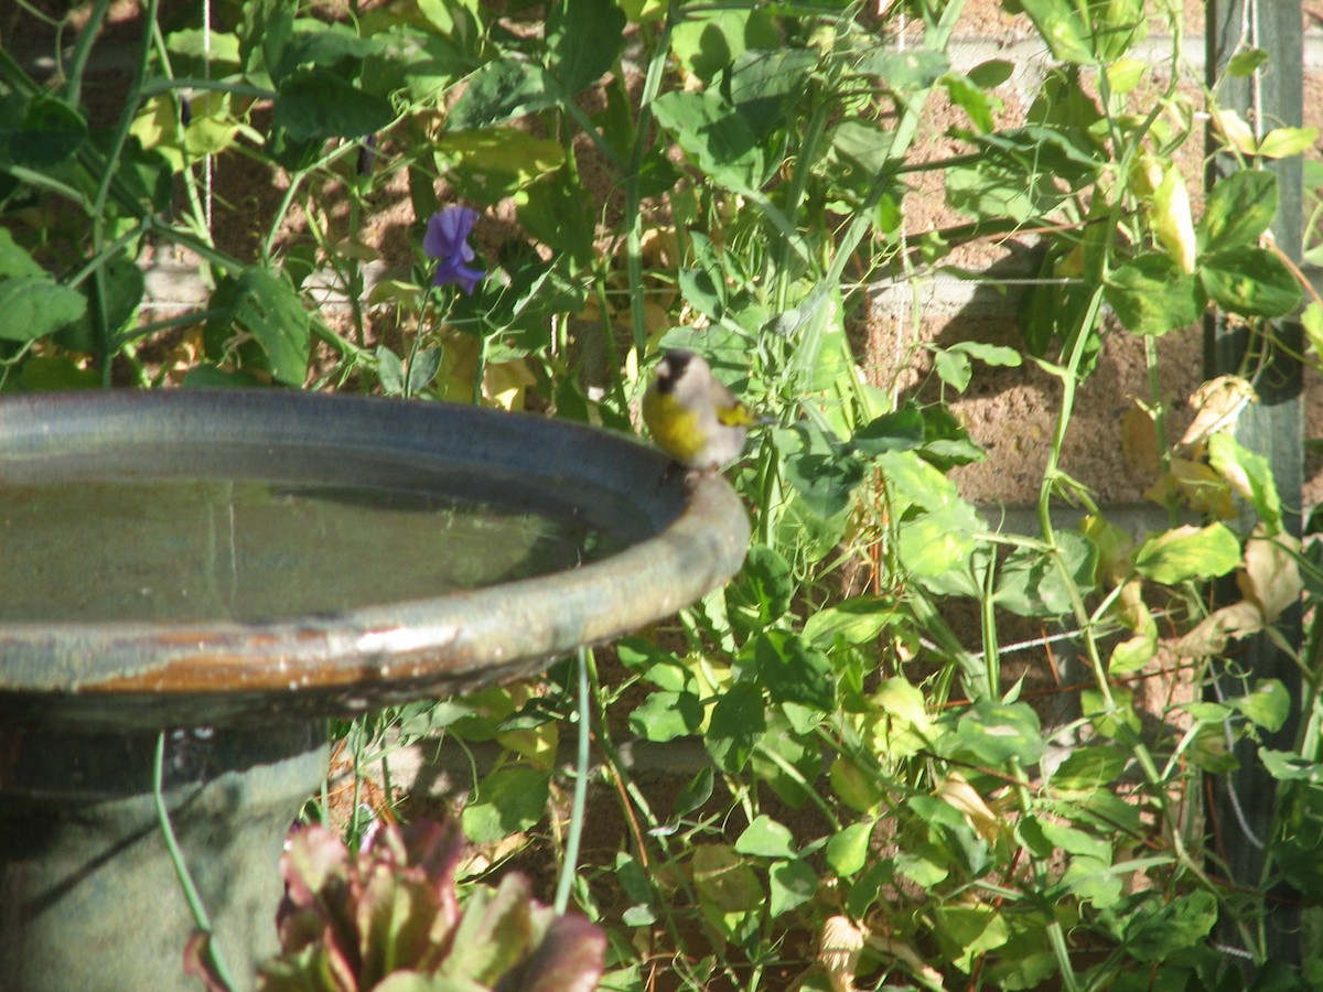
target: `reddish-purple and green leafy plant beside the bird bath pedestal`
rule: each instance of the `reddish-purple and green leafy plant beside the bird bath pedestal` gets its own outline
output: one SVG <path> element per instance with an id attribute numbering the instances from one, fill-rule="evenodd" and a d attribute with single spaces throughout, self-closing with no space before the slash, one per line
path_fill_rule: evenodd
<path id="1" fill-rule="evenodd" d="M 507 874 L 475 886 L 460 907 L 455 823 L 382 827 L 352 854 L 323 827 L 288 843 L 286 895 L 277 914 L 282 952 L 261 966 L 263 992 L 591 992 L 606 935 L 582 917 L 558 917 Z M 224 989 L 191 946 L 189 971 Z"/>

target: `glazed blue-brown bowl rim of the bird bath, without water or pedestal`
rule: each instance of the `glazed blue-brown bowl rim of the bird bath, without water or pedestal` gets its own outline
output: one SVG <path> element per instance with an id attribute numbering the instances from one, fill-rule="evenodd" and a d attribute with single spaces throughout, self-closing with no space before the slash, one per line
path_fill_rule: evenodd
<path id="1" fill-rule="evenodd" d="M 282 390 L 0 399 L 0 487 L 242 477 L 462 487 L 597 517 L 626 548 L 534 578 L 266 622 L 0 622 L 0 721 L 79 730 L 352 714 L 534 671 L 732 577 L 747 518 L 716 475 L 533 414 Z M 467 495 L 466 492 L 466 495 Z"/>

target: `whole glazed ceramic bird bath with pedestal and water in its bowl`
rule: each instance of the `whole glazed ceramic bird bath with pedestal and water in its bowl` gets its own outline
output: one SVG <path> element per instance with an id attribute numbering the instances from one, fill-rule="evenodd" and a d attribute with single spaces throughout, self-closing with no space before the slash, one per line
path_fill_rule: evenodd
<path id="1" fill-rule="evenodd" d="M 529 675 L 693 602 L 746 544 L 725 480 L 546 418 L 0 401 L 0 989 L 189 987 L 157 798 L 247 987 L 327 717 Z"/>

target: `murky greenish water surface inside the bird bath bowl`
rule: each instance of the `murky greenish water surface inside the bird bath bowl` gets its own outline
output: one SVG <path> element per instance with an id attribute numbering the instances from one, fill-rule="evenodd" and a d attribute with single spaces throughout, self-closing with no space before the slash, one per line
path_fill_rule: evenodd
<path id="1" fill-rule="evenodd" d="M 541 575 L 601 532 L 435 493 L 257 481 L 0 487 L 0 622 L 267 620 Z"/>

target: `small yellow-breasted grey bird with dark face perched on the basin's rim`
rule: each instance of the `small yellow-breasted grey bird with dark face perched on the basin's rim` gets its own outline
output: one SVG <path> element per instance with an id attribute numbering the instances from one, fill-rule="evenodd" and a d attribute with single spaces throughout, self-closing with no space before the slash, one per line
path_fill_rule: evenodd
<path id="1" fill-rule="evenodd" d="M 654 369 L 643 394 L 643 422 L 663 451 L 687 468 L 716 471 L 744 452 L 758 423 L 693 352 L 671 351 Z"/>

